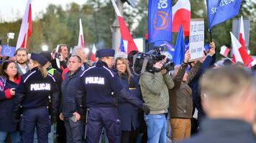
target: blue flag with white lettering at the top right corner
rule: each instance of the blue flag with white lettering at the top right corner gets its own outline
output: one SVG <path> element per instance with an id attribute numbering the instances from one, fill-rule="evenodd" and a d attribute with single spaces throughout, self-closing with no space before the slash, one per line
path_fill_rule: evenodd
<path id="1" fill-rule="evenodd" d="M 236 16 L 241 3 L 242 0 L 206 0 L 209 29 Z"/>

